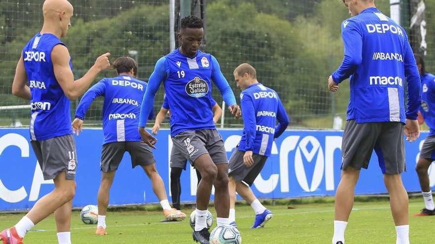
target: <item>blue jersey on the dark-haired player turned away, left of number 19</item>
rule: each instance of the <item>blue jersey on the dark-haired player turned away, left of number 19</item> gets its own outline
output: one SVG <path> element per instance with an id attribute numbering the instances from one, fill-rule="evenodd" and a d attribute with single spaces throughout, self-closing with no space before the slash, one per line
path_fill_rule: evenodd
<path id="1" fill-rule="evenodd" d="M 140 141 L 139 111 L 147 83 L 129 75 L 104 78 L 93 85 L 77 106 L 76 118 L 84 120 L 96 97 L 104 97 L 103 144 L 114 141 Z M 152 118 L 152 111 L 149 119 Z"/>

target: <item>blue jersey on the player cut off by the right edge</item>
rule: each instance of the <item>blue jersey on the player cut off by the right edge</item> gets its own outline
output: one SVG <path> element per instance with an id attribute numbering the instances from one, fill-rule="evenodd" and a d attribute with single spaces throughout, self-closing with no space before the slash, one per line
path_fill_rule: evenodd
<path id="1" fill-rule="evenodd" d="M 431 129 L 429 136 L 435 135 L 435 75 L 425 73 L 421 76 L 422 103 L 420 112 Z"/>

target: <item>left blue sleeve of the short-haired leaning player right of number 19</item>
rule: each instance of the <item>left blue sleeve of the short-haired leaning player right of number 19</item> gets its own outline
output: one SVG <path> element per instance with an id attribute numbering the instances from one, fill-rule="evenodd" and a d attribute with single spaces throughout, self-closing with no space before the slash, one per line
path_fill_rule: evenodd
<path id="1" fill-rule="evenodd" d="M 244 94 L 243 97 L 241 97 L 241 107 L 243 123 L 245 125 L 245 150 L 252 151 L 254 150 L 257 120 L 255 117 L 254 102 L 248 94 Z"/>

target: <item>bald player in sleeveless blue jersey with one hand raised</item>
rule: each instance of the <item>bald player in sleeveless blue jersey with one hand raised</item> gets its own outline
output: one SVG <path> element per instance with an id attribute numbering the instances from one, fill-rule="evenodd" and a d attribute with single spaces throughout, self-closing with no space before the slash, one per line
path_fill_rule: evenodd
<path id="1" fill-rule="evenodd" d="M 46 0 L 44 25 L 24 47 L 12 93 L 30 100 L 31 144 L 44 179 L 54 190 L 41 198 L 14 227 L 1 232 L 3 244 L 22 244 L 33 226 L 54 212 L 59 244 L 71 244 L 71 205 L 75 194 L 77 154 L 71 130 L 70 101 L 81 96 L 101 70 L 110 67 L 106 53 L 80 79 L 74 80 L 64 37 L 71 26 L 73 6 L 67 0 Z"/>

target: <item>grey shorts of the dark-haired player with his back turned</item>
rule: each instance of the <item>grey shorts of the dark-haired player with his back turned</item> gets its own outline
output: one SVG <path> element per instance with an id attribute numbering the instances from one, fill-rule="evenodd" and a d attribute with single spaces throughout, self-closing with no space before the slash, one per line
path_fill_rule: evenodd
<path id="1" fill-rule="evenodd" d="M 101 152 L 101 171 L 116 171 L 125 152 L 130 154 L 131 168 L 156 163 L 151 147 L 143 141 L 109 142 L 103 145 L 103 151 Z"/>

